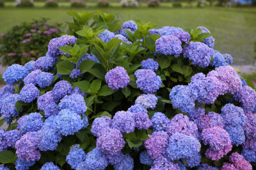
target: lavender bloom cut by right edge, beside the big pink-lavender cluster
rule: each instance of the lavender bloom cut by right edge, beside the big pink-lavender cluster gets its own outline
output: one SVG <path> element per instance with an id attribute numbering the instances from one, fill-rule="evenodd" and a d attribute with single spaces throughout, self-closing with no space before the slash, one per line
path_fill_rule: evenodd
<path id="1" fill-rule="evenodd" d="M 242 104 L 244 111 L 252 112 L 256 104 L 256 92 L 252 87 L 246 85 L 234 94 L 234 99 Z"/>

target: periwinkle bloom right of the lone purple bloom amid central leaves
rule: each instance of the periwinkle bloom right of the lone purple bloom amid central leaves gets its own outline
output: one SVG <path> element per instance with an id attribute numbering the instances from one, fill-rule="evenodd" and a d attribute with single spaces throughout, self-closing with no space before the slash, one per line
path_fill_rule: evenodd
<path id="1" fill-rule="evenodd" d="M 138 73 L 136 73 L 137 71 Z M 136 83 L 140 90 L 143 90 L 143 92 L 148 94 L 154 93 L 160 88 L 162 84 L 161 77 L 157 76 L 154 71 L 152 71 L 151 69 L 139 69 L 137 71 L 135 71 L 134 74 L 138 75 L 136 76 Z"/>

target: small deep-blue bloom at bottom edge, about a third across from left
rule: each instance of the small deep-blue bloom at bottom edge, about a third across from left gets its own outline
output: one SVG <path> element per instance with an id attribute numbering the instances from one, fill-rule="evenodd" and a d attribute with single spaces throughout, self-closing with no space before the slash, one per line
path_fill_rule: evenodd
<path id="1" fill-rule="evenodd" d="M 75 148 L 68 153 L 66 161 L 72 169 L 76 169 L 79 163 L 85 161 L 85 158 L 86 153 L 81 148 Z"/>

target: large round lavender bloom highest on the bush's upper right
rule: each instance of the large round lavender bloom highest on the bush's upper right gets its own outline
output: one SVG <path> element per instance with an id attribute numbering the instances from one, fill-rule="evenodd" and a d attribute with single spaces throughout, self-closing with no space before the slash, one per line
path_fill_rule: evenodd
<path id="1" fill-rule="evenodd" d="M 181 52 L 181 41 L 176 36 L 161 36 L 161 38 L 156 40 L 156 53 L 174 55 L 177 58 Z"/>

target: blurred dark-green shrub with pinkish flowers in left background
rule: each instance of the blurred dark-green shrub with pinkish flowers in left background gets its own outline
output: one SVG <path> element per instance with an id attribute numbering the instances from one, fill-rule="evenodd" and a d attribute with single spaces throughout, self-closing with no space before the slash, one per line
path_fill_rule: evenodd
<path id="1" fill-rule="evenodd" d="M 25 64 L 45 55 L 49 40 L 60 34 L 61 24 L 49 24 L 46 18 L 15 25 L 0 36 L 0 56 L 3 66 Z"/>

